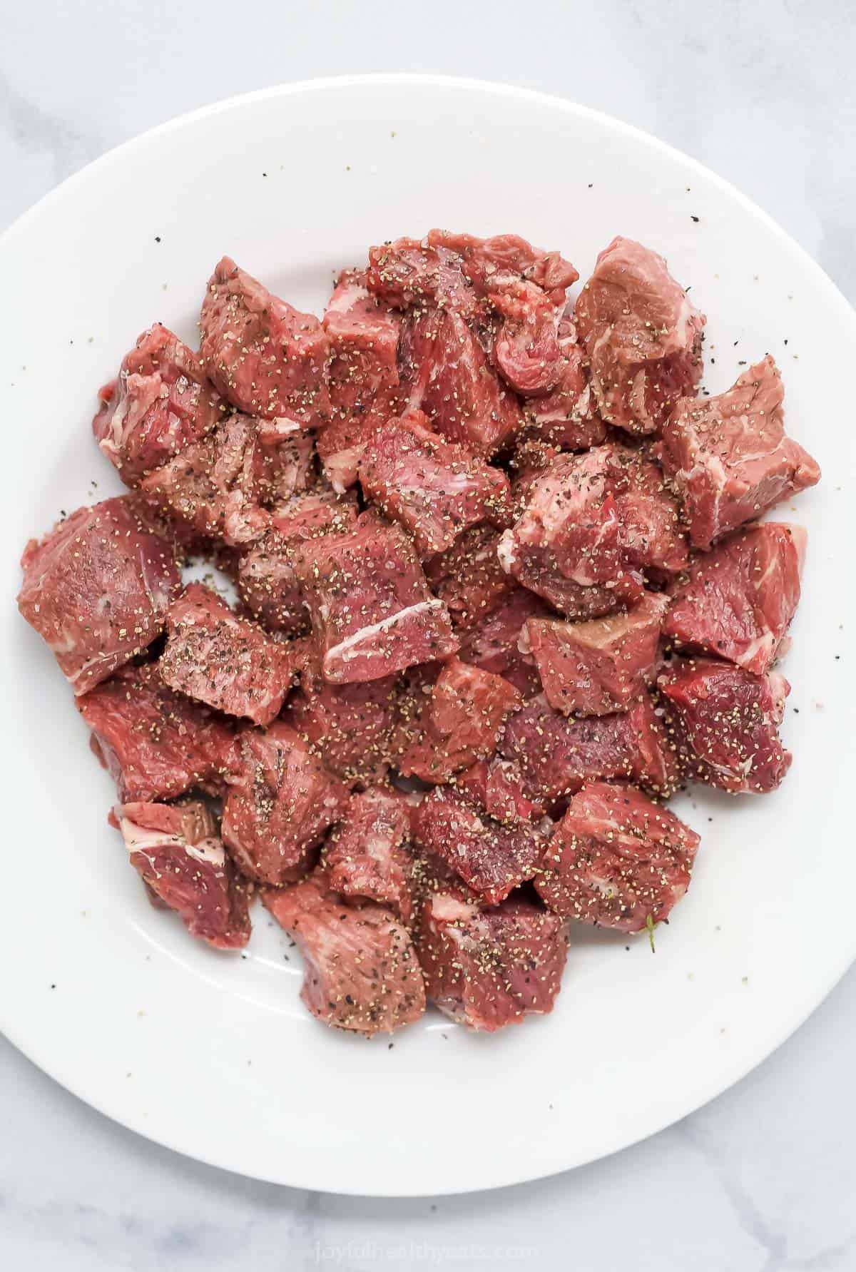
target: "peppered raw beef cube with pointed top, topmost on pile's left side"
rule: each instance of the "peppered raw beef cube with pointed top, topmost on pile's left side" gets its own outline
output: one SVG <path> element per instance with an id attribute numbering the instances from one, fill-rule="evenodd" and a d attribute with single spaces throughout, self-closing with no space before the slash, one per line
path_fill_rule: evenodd
<path id="1" fill-rule="evenodd" d="M 314 429 L 329 418 L 324 328 L 228 256 L 209 280 L 200 335 L 209 378 L 239 411 L 286 427 Z"/>

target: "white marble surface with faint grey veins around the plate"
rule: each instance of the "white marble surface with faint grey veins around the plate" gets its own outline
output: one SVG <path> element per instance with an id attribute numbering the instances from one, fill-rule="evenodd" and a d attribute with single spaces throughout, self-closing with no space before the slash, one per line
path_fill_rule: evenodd
<path id="1" fill-rule="evenodd" d="M 851 0 L 524 11 L 0 0 L 0 226 L 106 149 L 219 97 L 345 71 L 445 71 L 574 97 L 674 142 L 768 209 L 856 299 Z M 810 941 L 815 918 L 794 940 Z M 852 1269 L 855 1066 L 851 972 L 758 1071 L 644 1145 L 496 1193 L 385 1202 L 176 1156 L 0 1043 L 0 1267 Z M 466 1137 L 450 1151 L 466 1152 Z"/>

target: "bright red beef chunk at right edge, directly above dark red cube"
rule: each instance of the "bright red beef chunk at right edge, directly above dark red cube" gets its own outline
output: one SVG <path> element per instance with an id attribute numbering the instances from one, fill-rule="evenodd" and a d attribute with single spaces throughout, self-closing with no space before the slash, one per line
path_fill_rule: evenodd
<path id="1" fill-rule="evenodd" d="M 799 604 L 805 541 L 801 525 L 766 522 L 697 556 L 663 635 L 763 675 Z"/>

